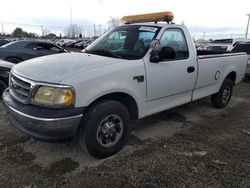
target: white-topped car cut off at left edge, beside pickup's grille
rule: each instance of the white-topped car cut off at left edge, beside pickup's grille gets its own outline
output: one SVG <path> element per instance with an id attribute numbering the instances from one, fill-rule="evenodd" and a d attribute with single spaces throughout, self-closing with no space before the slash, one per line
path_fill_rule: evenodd
<path id="1" fill-rule="evenodd" d="M 0 99 L 2 99 L 3 91 L 9 85 L 9 73 L 14 63 L 0 60 Z"/>

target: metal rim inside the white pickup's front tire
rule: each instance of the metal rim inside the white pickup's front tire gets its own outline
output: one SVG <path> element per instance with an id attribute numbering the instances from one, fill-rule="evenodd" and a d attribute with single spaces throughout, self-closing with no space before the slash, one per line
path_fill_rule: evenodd
<path id="1" fill-rule="evenodd" d="M 97 128 L 96 139 L 104 147 L 113 147 L 123 134 L 123 121 L 120 116 L 110 114 L 103 118 Z"/>

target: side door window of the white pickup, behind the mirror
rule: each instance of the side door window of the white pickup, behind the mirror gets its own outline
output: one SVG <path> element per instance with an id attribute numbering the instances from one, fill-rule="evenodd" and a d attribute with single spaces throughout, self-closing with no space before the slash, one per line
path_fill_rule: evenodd
<path id="1" fill-rule="evenodd" d="M 167 29 L 160 43 L 160 56 L 163 60 L 187 59 L 189 56 L 187 42 L 181 29 Z"/>

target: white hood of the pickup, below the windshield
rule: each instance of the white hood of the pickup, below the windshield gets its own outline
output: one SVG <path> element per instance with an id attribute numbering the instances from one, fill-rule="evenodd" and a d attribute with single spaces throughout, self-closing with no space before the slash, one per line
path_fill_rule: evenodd
<path id="1" fill-rule="evenodd" d="M 66 77 L 119 61 L 121 59 L 86 53 L 63 53 L 23 61 L 15 65 L 12 71 L 34 81 L 60 83 Z"/>

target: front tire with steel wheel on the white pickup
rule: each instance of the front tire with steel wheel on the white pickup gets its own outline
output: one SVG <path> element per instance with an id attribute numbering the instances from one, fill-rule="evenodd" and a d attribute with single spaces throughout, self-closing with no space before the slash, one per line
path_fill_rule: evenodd
<path id="1" fill-rule="evenodd" d="M 118 153 L 130 132 L 128 109 L 117 101 L 96 103 L 80 125 L 78 139 L 83 150 L 102 159 Z"/>

